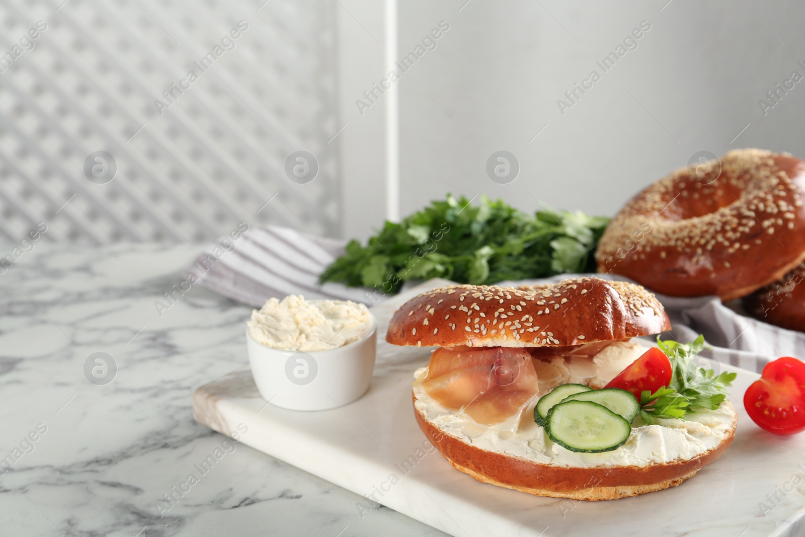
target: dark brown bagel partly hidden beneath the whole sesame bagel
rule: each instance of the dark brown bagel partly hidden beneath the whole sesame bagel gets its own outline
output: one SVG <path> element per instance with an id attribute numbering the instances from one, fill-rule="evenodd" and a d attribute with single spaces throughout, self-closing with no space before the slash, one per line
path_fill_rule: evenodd
<path id="1" fill-rule="evenodd" d="M 805 263 L 782 279 L 741 299 L 749 315 L 789 330 L 805 332 Z"/>

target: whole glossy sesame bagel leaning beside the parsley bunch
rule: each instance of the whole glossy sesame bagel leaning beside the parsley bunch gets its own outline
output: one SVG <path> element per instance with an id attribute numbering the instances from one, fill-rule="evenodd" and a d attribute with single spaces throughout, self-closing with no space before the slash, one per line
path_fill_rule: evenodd
<path id="1" fill-rule="evenodd" d="M 805 260 L 805 163 L 735 150 L 634 196 L 606 229 L 599 272 L 666 295 L 748 295 Z"/>

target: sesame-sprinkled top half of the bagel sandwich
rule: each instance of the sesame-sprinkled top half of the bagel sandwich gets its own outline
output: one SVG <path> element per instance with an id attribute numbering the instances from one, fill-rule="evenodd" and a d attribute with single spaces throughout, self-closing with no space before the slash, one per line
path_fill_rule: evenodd
<path id="1" fill-rule="evenodd" d="M 634 283 L 565 279 L 533 289 L 457 285 L 427 291 L 391 319 L 393 345 L 547 347 L 648 336 L 671 328 Z"/>

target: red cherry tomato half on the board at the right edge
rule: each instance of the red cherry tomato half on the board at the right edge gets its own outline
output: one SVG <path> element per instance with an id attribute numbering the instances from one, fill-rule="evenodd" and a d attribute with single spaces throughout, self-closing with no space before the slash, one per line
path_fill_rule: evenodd
<path id="1" fill-rule="evenodd" d="M 778 435 L 805 431 L 805 363 L 792 357 L 770 361 L 744 394 L 744 407 L 760 428 Z"/>

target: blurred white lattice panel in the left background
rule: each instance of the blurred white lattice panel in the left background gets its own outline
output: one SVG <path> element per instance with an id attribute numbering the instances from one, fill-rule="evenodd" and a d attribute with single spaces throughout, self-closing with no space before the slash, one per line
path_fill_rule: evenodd
<path id="1" fill-rule="evenodd" d="M 0 233 L 17 242 L 39 221 L 45 240 L 89 244 L 204 241 L 239 221 L 338 233 L 335 7 L 0 2 Z M 318 161 L 309 184 L 284 171 L 301 150 Z"/>

